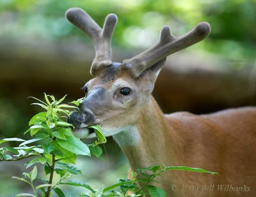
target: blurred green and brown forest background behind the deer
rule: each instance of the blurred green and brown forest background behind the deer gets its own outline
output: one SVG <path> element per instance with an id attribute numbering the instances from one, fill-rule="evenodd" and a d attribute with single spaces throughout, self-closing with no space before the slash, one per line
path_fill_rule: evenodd
<path id="1" fill-rule="evenodd" d="M 211 93 L 204 93 L 208 96 L 204 97 L 204 91 L 199 89 L 193 97 L 195 93 L 188 92 L 188 89 L 193 85 L 196 91 L 196 81 L 195 84 L 190 82 L 188 87 L 184 85 L 182 88 L 186 90 L 181 92 L 187 91 L 187 94 L 180 96 L 181 93 L 168 89 L 172 85 L 179 87 L 179 83 L 168 82 L 166 87 L 163 85 L 166 81 L 159 80 L 154 92 L 159 104 L 164 112 L 190 110 L 196 113 L 255 105 L 256 0 L 1 0 L 0 138 L 24 138 L 22 133 L 28 129 L 28 120 L 38 112 L 38 108 L 30 106 L 32 100 L 27 99 L 28 96 L 43 98 L 43 92 L 46 92 L 57 98 L 68 94 L 67 101 L 83 97 L 80 87 L 90 78 L 94 52 L 88 37 L 65 19 L 65 11 L 71 7 L 83 8 L 100 26 L 108 13 L 118 15 L 112 40 L 113 61 L 122 61 L 154 45 L 164 25 L 171 27 L 174 36 L 179 36 L 200 21 L 209 22 L 212 29 L 209 38 L 184 50 L 184 54 L 179 52 L 186 57 L 182 64 L 190 68 L 189 54 L 195 59 L 196 55 L 205 59 L 211 57 L 207 60 L 198 58 L 199 71 L 201 67 L 206 69 L 210 62 L 213 65 L 211 69 L 217 70 L 212 86 L 218 84 L 219 80 L 215 79 L 219 76 L 230 78 L 228 85 L 219 82 L 218 88 L 223 87 L 223 91 L 211 90 Z M 174 61 L 173 64 L 179 62 Z M 196 72 L 204 74 L 198 69 Z M 184 83 L 190 76 L 180 71 L 175 73 Z M 209 80 L 208 75 L 201 74 L 200 77 L 206 77 L 198 83 L 207 84 L 208 81 L 204 80 Z M 170 78 L 175 79 L 174 76 Z M 240 89 L 236 89 L 237 86 Z M 207 89 L 205 86 L 202 88 Z M 248 88 L 249 92 L 239 94 Z M 232 94 L 234 89 L 236 96 Z M 216 96 L 218 93 L 220 95 Z M 175 100 L 170 101 L 168 96 Z M 79 159 L 78 165 L 83 168 L 84 175 L 77 179 L 101 187 L 126 176 L 127 161 L 111 138 L 106 144 L 104 157 L 106 161 Z M 24 161 L 0 163 L 1 197 L 26 191 L 26 187 L 10 178 L 21 175 L 23 164 Z M 67 196 L 79 194 L 80 191 L 70 188 L 66 190 Z"/>

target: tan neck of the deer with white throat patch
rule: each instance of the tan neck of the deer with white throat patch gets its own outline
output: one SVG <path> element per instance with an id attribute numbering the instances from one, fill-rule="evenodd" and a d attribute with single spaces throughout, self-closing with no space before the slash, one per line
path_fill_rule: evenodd
<path id="1" fill-rule="evenodd" d="M 141 109 L 138 121 L 113 138 L 128 158 L 132 170 L 136 170 L 154 164 L 174 164 L 170 163 L 172 160 L 170 158 L 175 156 L 170 144 L 175 146 L 175 139 L 172 140 L 173 142 L 166 140 L 172 139 L 169 137 L 172 133 L 174 133 L 173 129 L 170 128 L 163 112 L 151 96 L 150 101 Z"/>

